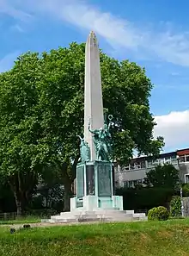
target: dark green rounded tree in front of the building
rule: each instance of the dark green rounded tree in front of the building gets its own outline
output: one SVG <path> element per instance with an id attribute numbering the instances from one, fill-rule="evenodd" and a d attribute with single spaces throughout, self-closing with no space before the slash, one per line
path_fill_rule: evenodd
<path id="1" fill-rule="evenodd" d="M 147 172 L 146 176 L 144 184 L 147 186 L 175 190 L 178 188 L 178 184 L 180 184 L 179 172 L 174 165 L 157 165 L 155 169 Z"/>

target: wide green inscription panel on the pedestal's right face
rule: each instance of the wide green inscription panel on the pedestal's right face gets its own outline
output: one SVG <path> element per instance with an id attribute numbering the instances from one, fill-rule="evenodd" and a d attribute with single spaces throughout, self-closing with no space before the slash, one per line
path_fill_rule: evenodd
<path id="1" fill-rule="evenodd" d="M 111 165 L 98 165 L 98 196 L 99 197 L 111 197 L 112 186 L 111 186 Z"/>

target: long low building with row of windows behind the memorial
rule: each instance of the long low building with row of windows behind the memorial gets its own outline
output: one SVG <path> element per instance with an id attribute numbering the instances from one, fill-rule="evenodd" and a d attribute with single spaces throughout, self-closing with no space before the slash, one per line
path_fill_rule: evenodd
<path id="1" fill-rule="evenodd" d="M 138 157 L 131 159 L 130 165 L 120 167 L 114 165 L 115 186 L 134 187 L 142 184 L 146 172 L 155 168 L 156 165 L 172 164 L 178 169 L 182 183 L 189 183 L 189 148 L 176 150 L 170 153 L 162 153 L 157 159 L 152 157 Z"/>

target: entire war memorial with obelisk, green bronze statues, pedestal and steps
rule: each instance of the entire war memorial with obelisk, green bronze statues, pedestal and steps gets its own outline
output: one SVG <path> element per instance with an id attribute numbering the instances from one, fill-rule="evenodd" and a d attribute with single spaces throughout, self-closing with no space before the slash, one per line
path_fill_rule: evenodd
<path id="1" fill-rule="evenodd" d="M 76 197 L 70 198 L 70 212 L 53 215 L 47 222 L 130 222 L 147 218 L 143 213 L 123 210 L 123 197 L 114 195 L 112 118 L 103 112 L 100 53 L 91 32 L 85 48 L 84 136 L 79 136 Z"/>

